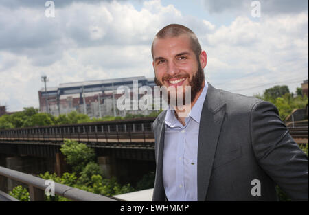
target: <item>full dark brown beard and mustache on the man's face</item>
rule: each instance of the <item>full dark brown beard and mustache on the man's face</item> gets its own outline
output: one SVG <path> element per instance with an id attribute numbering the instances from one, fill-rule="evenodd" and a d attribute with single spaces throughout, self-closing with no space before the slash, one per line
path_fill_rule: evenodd
<path id="1" fill-rule="evenodd" d="M 164 80 L 169 80 L 170 78 L 189 78 L 189 76 L 163 76 L 162 81 Z M 204 76 L 204 71 L 201 67 L 201 64 L 198 62 L 198 71 L 196 72 L 195 75 L 192 76 L 192 80 L 189 81 L 189 85 L 191 87 L 191 101 L 193 102 L 194 99 L 196 98 L 196 95 L 199 91 L 201 91 L 202 87 L 203 87 L 203 82 L 205 80 L 205 76 Z M 155 84 L 157 84 L 157 86 L 162 87 L 163 86 L 163 82 L 161 82 L 159 79 L 157 79 L 157 77 L 155 77 Z M 168 92 L 168 104 L 170 104 L 170 92 Z M 177 103 L 177 96 L 176 96 L 176 104 Z M 183 104 L 186 104 L 186 100 L 185 100 L 185 91 L 183 92 Z"/>

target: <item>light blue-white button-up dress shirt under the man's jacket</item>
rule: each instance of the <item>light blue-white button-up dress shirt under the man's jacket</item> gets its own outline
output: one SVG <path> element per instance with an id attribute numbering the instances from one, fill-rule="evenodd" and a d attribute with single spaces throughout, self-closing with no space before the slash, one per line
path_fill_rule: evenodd
<path id="1" fill-rule="evenodd" d="M 205 82 L 201 95 L 185 118 L 185 126 L 168 106 L 163 152 L 163 185 L 168 201 L 197 201 L 198 131 L 207 88 Z"/>

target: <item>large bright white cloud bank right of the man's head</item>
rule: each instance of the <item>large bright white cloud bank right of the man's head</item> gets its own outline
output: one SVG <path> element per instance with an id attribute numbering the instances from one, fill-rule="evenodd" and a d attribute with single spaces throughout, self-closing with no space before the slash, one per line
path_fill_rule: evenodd
<path id="1" fill-rule="evenodd" d="M 238 17 L 231 25 L 219 27 L 210 34 L 207 44 L 208 55 L 220 59 L 208 70 L 212 73 L 210 80 L 218 83 L 218 87 L 253 95 L 282 82 L 295 91 L 301 80 L 308 78 L 308 14 L 305 12 L 268 16 L 259 22 Z M 259 85 L 264 87 L 253 88 Z"/>

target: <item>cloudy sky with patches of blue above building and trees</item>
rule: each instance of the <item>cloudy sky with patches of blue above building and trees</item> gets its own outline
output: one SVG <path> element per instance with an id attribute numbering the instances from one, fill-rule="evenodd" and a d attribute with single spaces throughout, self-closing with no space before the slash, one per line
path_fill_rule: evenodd
<path id="1" fill-rule="evenodd" d="M 0 106 L 38 108 L 43 75 L 47 87 L 154 78 L 151 43 L 170 23 L 196 33 L 218 89 L 295 92 L 308 79 L 307 0 L 1 0 Z"/>

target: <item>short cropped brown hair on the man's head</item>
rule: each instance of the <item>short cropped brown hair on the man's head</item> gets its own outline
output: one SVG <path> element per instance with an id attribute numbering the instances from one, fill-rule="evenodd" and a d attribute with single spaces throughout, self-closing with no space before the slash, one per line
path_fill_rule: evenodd
<path id="1" fill-rule="evenodd" d="M 202 52 L 202 49 L 200 43 L 198 42 L 198 38 L 196 37 L 194 32 L 192 32 L 192 30 L 179 24 L 170 24 L 159 30 L 154 40 L 152 41 L 151 45 L 152 58 L 153 58 L 153 44 L 156 38 L 173 38 L 180 36 L 181 34 L 186 34 L 190 38 L 191 49 L 194 52 L 196 59 L 199 60 L 199 56 Z"/>

